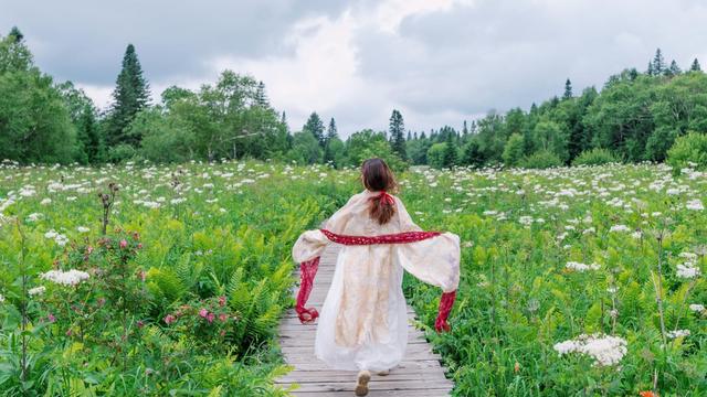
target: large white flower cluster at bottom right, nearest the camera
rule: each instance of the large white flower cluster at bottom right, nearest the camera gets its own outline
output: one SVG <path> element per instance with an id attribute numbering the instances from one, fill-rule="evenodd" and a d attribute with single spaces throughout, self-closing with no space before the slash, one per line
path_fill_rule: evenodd
<path id="1" fill-rule="evenodd" d="M 581 334 L 578 337 L 557 343 L 553 348 L 560 354 L 581 353 L 594 358 L 594 365 L 618 364 L 626 354 L 626 340 L 618 336 Z"/>

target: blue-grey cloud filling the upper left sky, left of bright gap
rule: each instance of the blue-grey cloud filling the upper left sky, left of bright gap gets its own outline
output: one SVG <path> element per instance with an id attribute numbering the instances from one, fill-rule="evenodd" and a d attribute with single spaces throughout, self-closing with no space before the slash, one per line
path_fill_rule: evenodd
<path id="1" fill-rule="evenodd" d="M 147 77 L 199 77 L 211 57 L 260 57 L 292 51 L 293 23 L 338 14 L 346 1 L 33 1 L 0 0 L 0 34 L 18 25 L 38 64 L 60 79 L 115 82 L 127 43 Z"/>

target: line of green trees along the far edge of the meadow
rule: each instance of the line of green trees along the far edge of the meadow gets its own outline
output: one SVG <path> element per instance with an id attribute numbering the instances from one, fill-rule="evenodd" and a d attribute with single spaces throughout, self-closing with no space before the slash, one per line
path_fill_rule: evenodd
<path id="1" fill-rule="evenodd" d="M 177 86 L 150 103 L 150 87 L 129 44 L 112 105 L 99 111 L 71 82 L 55 83 L 35 65 L 23 34 L 0 37 L 0 159 L 21 163 L 101 164 L 126 160 L 272 159 L 357 167 L 382 157 L 410 164 L 553 167 L 606 161 L 664 161 L 675 140 L 707 131 L 707 76 L 698 60 L 683 71 L 658 49 L 645 72 L 627 68 L 601 90 L 561 96 L 526 111 L 463 121 L 429 131 L 405 129 L 392 110 L 383 131 L 363 129 L 341 139 L 335 118 L 313 112 L 291 131 L 265 85 L 224 71 L 197 90 Z"/>

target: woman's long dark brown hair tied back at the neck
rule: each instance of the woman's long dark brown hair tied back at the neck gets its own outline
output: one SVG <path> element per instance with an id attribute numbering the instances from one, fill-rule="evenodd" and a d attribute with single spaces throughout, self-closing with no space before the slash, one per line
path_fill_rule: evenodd
<path id="1" fill-rule="evenodd" d="M 395 214 L 395 202 L 388 192 L 394 192 L 398 189 L 395 175 L 382 159 L 368 159 L 361 165 L 361 175 L 363 186 L 371 192 L 381 192 L 381 194 L 370 197 L 369 214 L 378 221 L 380 225 L 387 224 Z"/>

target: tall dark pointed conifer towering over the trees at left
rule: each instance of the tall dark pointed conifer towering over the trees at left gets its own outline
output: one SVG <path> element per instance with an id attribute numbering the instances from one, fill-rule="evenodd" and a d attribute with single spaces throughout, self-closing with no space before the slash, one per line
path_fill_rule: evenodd
<path id="1" fill-rule="evenodd" d="M 126 129 L 138 111 L 149 101 L 149 85 L 143 77 L 143 68 L 137 58 L 135 46 L 128 44 L 123 56 L 123 69 L 116 81 L 113 92 L 113 105 L 109 110 L 109 121 L 106 138 L 109 146 L 129 143 L 138 146 L 141 137 L 126 135 Z"/>

